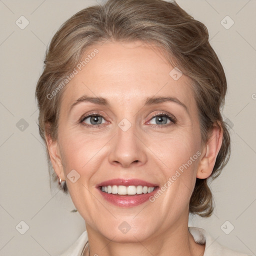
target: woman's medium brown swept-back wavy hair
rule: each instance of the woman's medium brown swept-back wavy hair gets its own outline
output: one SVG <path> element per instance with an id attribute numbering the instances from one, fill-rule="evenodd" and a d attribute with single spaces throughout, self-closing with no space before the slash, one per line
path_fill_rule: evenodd
<path id="1" fill-rule="evenodd" d="M 70 74 L 89 46 L 104 41 L 142 41 L 161 47 L 166 59 L 191 80 L 202 142 L 213 125 L 222 127 L 223 140 L 211 173 L 220 174 L 230 155 L 230 137 L 220 111 L 226 93 L 223 67 L 209 44 L 206 26 L 179 5 L 164 0 L 108 0 L 82 9 L 65 21 L 46 50 L 44 69 L 36 85 L 39 133 L 57 138 L 61 95 L 59 84 Z M 54 95 L 53 93 L 54 92 Z M 50 95 L 50 96 L 49 96 Z M 47 151 L 50 175 L 54 174 Z M 56 180 L 57 176 L 54 174 Z M 203 217 L 213 211 L 207 179 L 196 178 L 189 212 Z M 62 190 L 67 193 L 66 182 Z"/>

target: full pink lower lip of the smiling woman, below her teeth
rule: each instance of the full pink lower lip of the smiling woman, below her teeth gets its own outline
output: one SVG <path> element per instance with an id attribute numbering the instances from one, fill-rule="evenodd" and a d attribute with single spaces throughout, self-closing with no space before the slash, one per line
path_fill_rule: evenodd
<path id="1" fill-rule="evenodd" d="M 100 194 L 106 199 L 108 202 L 121 206 L 121 207 L 132 207 L 142 204 L 149 200 L 149 197 L 152 196 L 159 187 L 155 187 L 154 190 L 150 193 L 142 193 L 136 195 L 119 195 L 119 194 L 108 194 L 106 192 L 101 191 L 100 187 L 98 188 Z"/>

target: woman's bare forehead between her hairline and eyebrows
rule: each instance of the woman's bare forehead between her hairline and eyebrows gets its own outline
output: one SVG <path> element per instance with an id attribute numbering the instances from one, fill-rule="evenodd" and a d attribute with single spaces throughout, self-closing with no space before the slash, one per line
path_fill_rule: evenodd
<path id="1" fill-rule="evenodd" d="M 137 104 L 138 99 L 154 95 L 173 96 L 186 103 L 193 100 L 188 77 L 174 80 L 170 75 L 174 67 L 152 44 L 105 42 L 88 48 L 81 61 L 63 92 L 61 104 L 65 106 L 84 94 L 107 98 L 118 106 Z"/>

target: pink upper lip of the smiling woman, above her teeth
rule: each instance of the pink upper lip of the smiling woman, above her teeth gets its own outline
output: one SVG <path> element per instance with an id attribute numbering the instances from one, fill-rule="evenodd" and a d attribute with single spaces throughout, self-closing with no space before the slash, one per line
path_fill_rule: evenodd
<path id="1" fill-rule="evenodd" d="M 147 182 L 145 180 L 142 179 L 122 179 L 122 178 L 114 178 L 114 179 L 109 179 L 106 181 L 103 181 L 99 184 L 97 184 L 97 186 L 112 186 L 112 185 L 123 185 L 123 186 L 138 186 L 138 185 L 142 185 L 142 186 L 158 186 L 157 184 L 153 184 L 151 182 Z"/>

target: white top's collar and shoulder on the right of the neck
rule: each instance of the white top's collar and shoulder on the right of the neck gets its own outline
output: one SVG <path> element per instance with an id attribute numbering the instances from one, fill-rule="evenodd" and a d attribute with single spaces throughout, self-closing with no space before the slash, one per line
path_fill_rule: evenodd
<path id="1" fill-rule="evenodd" d="M 188 230 L 196 243 L 205 243 L 203 256 L 249 256 L 219 244 L 216 239 L 213 239 L 213 237 L 203 228 L 189 226 Z"/>

